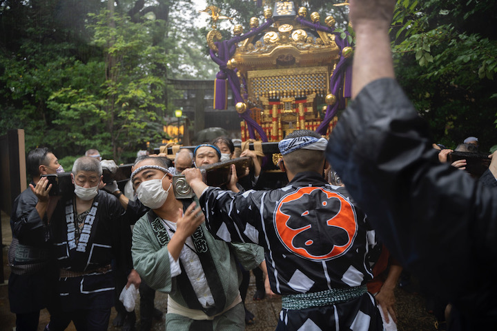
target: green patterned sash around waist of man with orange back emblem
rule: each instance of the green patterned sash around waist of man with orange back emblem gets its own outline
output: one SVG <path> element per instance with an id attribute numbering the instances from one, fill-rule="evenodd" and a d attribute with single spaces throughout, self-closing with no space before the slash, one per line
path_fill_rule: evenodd
<path id="1" fill-rule="evenodd" d="M 355 288 L 333 288 L 321 292 L 286 294 L 282 296 L 282 308 L 300 310 L 312 307 L 324 307 L 335 303 L 349 301 L 367 292 L 366 285 Z"/>

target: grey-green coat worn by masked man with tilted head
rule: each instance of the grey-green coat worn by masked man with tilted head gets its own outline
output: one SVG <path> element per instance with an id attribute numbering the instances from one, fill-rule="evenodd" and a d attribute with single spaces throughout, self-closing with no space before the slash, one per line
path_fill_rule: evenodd
<path id="1" fill-rule="evenodd" d="M 155 214 L 153 217 L 155 217 L 154 222 L 162 221 Z M 228 244 L 214 239 L 212 234 L 208 232 L 205 223 L 200 226 L 226 297 L 224 308 L 227 308 L 237 298 L 241 282 L 241 274 L 237 268 L 235 255 L 246 270 L 252 270 L 264 261 L 264 250 L 259 245 Z M 164 239 L 162 240 L 164 241 Z M 168 240 L 166 239 L 166 241 Z M 188 307 L 180 292 L 181 289 L 177 285 L 177 277 L 170 277 L 167 243 L 165 245 L 159 243 L 157 235 L 148 221 L 148 214 L 145 214 L 135 224 L 131 252 L 135 270 L 146 281 L 147 285 L 155 290 L 168 293 L 171 299 L 184 307 Z M 211 292 L 218 290 L 220 289 L 211 288 Z"/>

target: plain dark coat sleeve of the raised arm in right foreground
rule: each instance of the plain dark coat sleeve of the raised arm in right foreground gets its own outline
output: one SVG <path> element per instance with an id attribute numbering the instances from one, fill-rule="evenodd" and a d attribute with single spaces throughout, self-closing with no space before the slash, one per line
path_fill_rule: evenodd
<path id="1" fill-rule="evenodd" d="M 398 83 L 378 79 L 342 115 L 327 157 L 391 254 L 451 301 L 450 330 L 497 330 L 495 178 L 440 163 L 431 143 Z"/>

